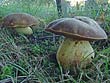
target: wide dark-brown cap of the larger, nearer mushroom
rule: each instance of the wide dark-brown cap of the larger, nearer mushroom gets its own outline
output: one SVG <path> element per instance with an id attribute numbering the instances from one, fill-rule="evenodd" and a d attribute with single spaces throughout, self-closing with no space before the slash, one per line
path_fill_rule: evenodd
<path id="1" fill-rule="evenodd" d="M 107 39 L 105 31 L 98 23 L 84 16 L 57 19 L 48 24 L 45 30 L 78 40 Z"/>

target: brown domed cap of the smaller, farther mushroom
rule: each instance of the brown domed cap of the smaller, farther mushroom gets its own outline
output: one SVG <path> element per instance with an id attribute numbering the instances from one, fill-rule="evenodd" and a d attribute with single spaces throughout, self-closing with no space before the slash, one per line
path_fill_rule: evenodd
<path id="1" fill-rule="evenodd" d="M 7 27 L 29 27 L 37 24 L 38 20 L 26 13 L 9 14 L 3 19 L 3 26 Z"/>

